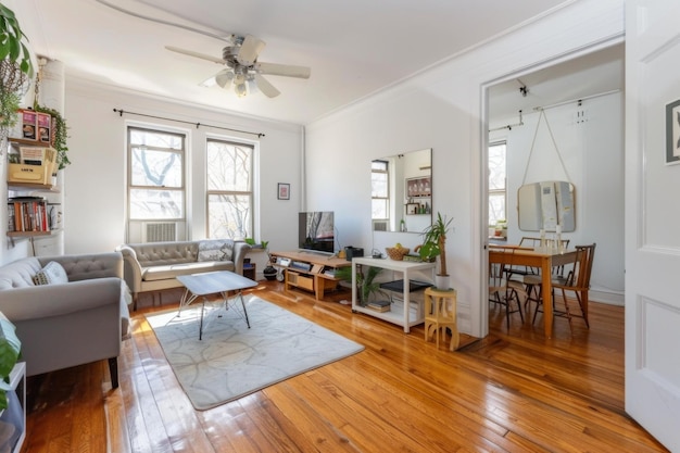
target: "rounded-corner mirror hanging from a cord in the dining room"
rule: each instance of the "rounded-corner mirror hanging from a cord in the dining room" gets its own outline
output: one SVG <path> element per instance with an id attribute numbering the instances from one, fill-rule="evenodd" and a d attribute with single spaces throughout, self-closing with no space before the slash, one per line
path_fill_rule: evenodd
<path id="1" fill-rule="evenodd" d="M 562 231 L 576 229 L 574 185 L 567 181 L 527 184 L 517 190 L 519 229 Z"/>

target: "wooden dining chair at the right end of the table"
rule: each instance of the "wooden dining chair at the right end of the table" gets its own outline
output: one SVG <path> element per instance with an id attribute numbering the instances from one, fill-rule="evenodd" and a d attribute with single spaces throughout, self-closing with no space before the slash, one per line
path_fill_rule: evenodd
<path id="1" fill-rule="evenodd" d="M 568 272 L 566 277 L 557 277 L 552 280 L 553 286 L 553 314 L 554 316 L 566 317 L 569 320 L 569 328 L 572 327 L 571 318 L 581 317 L 585 322 L 585 326 L 590 328 L 590 322 L 588 319 L 588 307 L 583 305 L 583 300 L 581 298 L 581 293 L 583 291 L 590 290 L 590 277 L 593 269 L 593 259 L 595 256 L 595 246 L 596 243 L 592 243 L 590 246 L 576 246 L 576 255 L 574 259 L 574 263 L 570 265 L 570 270 Z M 540 282 L 537 286 L 540 288 Z M 555 306 L 555 293 L 559 291 L 562 293 L 562 301 L 564 302 L 564 311 L 557 310 Z M 567 291 L 570 291 L 575 294 L 575 299 L 579 304 L 579 309 L 581 311 L 580 315 L 576 315 L 569 309 L 569 302 L 567 299 Z M 540 306 L 543 301 L 540 297 L 540 289 L 537 291 L 539 294 L 539 301 L 537 303 L 536 310 L 533 312 L 533 320 L 536 323 L 536 316 L 540 311 Z"/>

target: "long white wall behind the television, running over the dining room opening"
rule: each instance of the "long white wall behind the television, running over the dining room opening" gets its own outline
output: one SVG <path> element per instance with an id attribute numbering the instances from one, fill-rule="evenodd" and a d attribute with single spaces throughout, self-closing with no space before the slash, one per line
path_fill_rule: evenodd
<path id="1" fill-rule="evenodd" d="M 481 175 L 487 127 L 481 87 L 509 74 L 536 71 L 589 46 L 620 40 L 622 33 L 621 1 L 577 1 L 308 125 L 310 207 L 336 211 L 344 243 L 372 249 L 370 160 L 432 148 L 433 212 L 454 217 L 446 253 L 458 291 L 461 330 L 486 335 L 487 218 Z M 401 242 L 411 247 L 420 239 L 418 235 L 411 238 Z"/>

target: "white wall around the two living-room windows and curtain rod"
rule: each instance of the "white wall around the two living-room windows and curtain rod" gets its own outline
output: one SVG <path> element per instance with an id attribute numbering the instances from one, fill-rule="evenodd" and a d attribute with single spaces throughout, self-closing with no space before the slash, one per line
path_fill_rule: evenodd
<path id="1" fill-rule="evenodd" d="M 216 128 L 165 122 L 124 114 L 113 109 L 263 133 L 264 137 L 229 133 Z M 297 247 L 300 206 L 300 159 L 302 135 L 299 126 L 251 119 L 225 113 L 154 100 L 67 79 L 66 115 L 70 159 L 65 171 L 65 252 L 112 251 L 124 243 L 126 196 L 126 126 L 161 125 L 188 134 L 189 239 L 205 237 L 204 142 L 207 134 L 245 139 L 256 143 L 259 153 L 256 186 L 260 196 L 257 240 L 269 247 Z M 277 183 L 291 184 L 290 200 L 277 200 Z"/>

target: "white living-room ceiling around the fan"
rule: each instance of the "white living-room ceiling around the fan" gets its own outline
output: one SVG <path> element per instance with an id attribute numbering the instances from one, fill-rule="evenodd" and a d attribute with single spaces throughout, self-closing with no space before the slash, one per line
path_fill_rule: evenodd
<path id="1" fill-rule="evenodd" d="M 312 76 L 267 76 L 281 91 L 273 99 L 203 88 L 199 84 L 222 66 L 165 46 L 221 56 L 225 42 L 101 1 L 218 36 L 254 35 L 267 43 L 260 61 L 310 66 Z M 570 1 L 15 0 L 13 8 L 34 52 L 63 62 L 70 78 L 308 124 L 565 3 Z M 531 96 L 540 93 L 543 80 L 522 81 Z"/>

